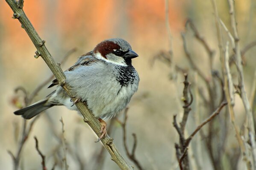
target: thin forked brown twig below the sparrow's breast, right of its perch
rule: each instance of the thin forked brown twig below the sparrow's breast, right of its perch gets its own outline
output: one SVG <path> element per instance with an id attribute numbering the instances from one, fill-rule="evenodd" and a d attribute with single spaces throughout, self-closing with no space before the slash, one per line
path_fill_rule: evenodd
<path id="1" fill-rule="evenodd" d="M 133 136 L 133 139 L 134 139 L 134 142 L 133 142 L 133 146 L 132 146 L 132 152 L 129 152 L 129 149 L 128 149 L 128 146 L 127 146 L 127 140 L 126 140 L 126 123 L 127 123 L 127 112 L 128 112 L 128 109 L 129 108 L 125 108 L 124 110 L 124 122 L 121 122 L 120 120 L 116 119 L 117 122 L 120 123 L 120 125 L 122 126 L 122 129 L 123 129 L 123 142 L 124 142 L 124 149 L 125 149 L 125 152 L 128 156 L 128 158 L 134 162 L 134 164 L 138 167 L 139 170 L 143 170 L 141 164 L 139 163 L 138 159 L 136 159 L 135 157 L 135 150 L 136 150 L 136 147 L 137 147 L 137 136 L 135 133 L 132 133 L 132 136 Z"/>

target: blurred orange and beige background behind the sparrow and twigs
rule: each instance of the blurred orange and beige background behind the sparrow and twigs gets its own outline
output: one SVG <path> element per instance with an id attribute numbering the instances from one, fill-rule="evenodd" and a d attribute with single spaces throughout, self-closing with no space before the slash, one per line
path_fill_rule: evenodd
<path id="1" fill-rule="evenodd" d="M 231 31 L 227 1 L 216 2 L 221 20 Z M 222 77 L 212 2 L 169 0 L 168 6 L 166 4 L 165 0 L 25 0 L 23 8 L 42 40 L 46 41 L 45 45 L 56 62 L 61 62 L 68 51 L 76 48 L 61 65 L 63 70 L 73 65 L 77 57 L 91 51 L 97 43 L 108 38 L 121 37 L 127 40 L 132 49 L 139 54 L 138 58 L 133 59 L 133 65 L 141 81 L 138 92 L 129 103 L 127 143 L 129 150 L 132 150 L 132 133 L 135 133 L 136 158 L 145 170 L 179 169 L 174 148 L 174 143 L 179 142 L 179 138 L 172 122 L 174 114 L 177 114 L 178 122 L 182 118 L 184 76 L 174 65 L 188 71 L 188 81 L 191 82 L 192 94 L 196 97 L 188 118 L 187 136 L 221 102 L 218 97 L 210 99 L 205 82 L 198 77 L 197 71 L 191 68 L 186 58 L 181 37 L 183 32 L 193 61 L 209 81 L 213 79 L 213 70 Z M 15 88 L 24 87 L 26 92 L 31 94 L 52 73 L 41 57 L 33 57 L 36 48 L 18 20 L 12 19 L 13 12 L 5 1 L 0 2 L 0 8 L 0 169 L 10 170 L 13 168 L 13 161 L 7 150 L 17 153 L 24 125 L 23 119 L 13 114 L 25 105 L 24 93 L 15 93 Z M 166 8 L 169 11 L 168 16 Z M 240 45 L 243 49 L 256 40 L 256 2 L 235 1 L 235 11 Z M 203 45 L 195 39 L 190 27 L 185 28 L 188 18 L 214 52 L 212 68 L 209 66 L 209 56 Z M 170 26 L 171 41 L 167 24 Z M 229 40 L 227 33 L 223 28 L 222 30 L 224 40 Z M 161 59 L 163 54 L 169 55 L 170 50 L 173 52 L 173 55 L 169 56 L 171 62 Z M 243 56 L 245 85 L 249 98 L 253 96 L 251 88 L 256 68 L 255 53 L 256 48 L 250 48 Z M 237 72 L 234 65 L 231 66 L 231 71 L 236 80 Z M 237 84 L 237 81 L 234 84 Z M 39 91 L 33 102 L 53 91 L 52 88 L 47 89 L 48 85 L 50 82 Z M 196 96 L 198 91 L 201 95 Z M 218 86 L 216 91 L 221 94 L 221 87 Z M 209 101 L 216 100 L 216 105 L 209 109 L 203 96 Z M 255 113 L 255 108 L 253 111 Z M 56 170 L 63 169 L 63 144 L 60 140 L 62 124 L 59 121 L 61 117 L 65 124 L 64 135 L 68 147 L 66 158 L 70 170 L 119 169 L 111 160 L 109 153 L 101 153 L 102 144 L 94 143 L 97 137 L 83 122 L 82 116 L 62 106 L 50 108 L 35 121 L 21 151 L 21 169 L 41 169 L 41 157 L 35 149 L 33 136 L 37 137 L 39 148 L 46 156 L 47 169 L 51 169 L 54 164 Z M 118 119 L 123 121 L 123 117 L 122 112 Z M 236 95 L 235 119 L 241 128 L 244 117 L 241 99 Z M 218 162 L 221 169 L 243 169 L 244 162 L 227 110 L 223 110 L 223 114 L 216 120 L 212 127 L 203 127 L 203 133 L 198 133 L 192 140 L 191 149 L 188 150 L 191 168 L 218 169 L 214 166 L 214 162 Z M 29 125 L 31 121 L 27 121 L 26 124 Z M 211 128 L 216 132 L 212 133 L 212 151 L 206 144 L 206 137 Z M 134 165 L 127 158 L 122 127 L 115 120 L 112 122 L 110 136 L 114 138 L 115 144 L 128 163 Z M 211 152 L 212 156 L 209 154 Z M 102 155 L 103 159 L 99 159 L 99 155 Z M 215 159 L 218 160 L 214 161 Z"/>

